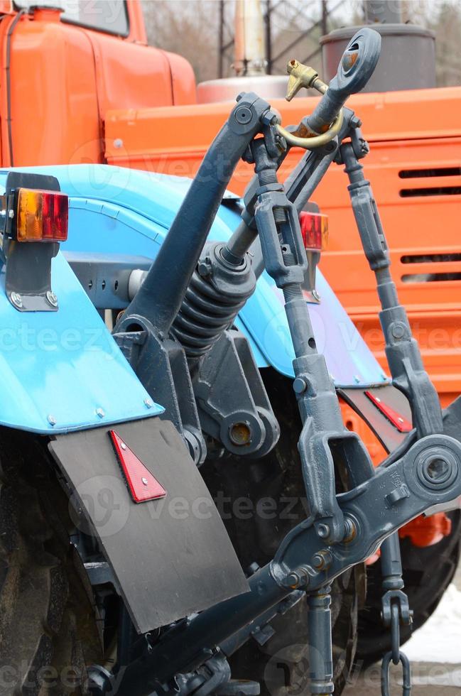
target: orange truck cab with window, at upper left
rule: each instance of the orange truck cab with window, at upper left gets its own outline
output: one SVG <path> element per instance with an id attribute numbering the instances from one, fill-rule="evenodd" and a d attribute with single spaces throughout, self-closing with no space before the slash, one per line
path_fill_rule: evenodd
<path id="1" fill-rule="evenodd" d="M 191 65 L 147 45 L 139 2 L 46 4 L 0 2 L 2 166 L 102 162 L 112 109 L 195 102 Z"/>

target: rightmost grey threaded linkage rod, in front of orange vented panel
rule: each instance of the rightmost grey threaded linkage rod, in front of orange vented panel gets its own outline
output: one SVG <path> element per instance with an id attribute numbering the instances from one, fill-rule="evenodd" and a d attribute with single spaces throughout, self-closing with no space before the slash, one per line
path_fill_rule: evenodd
<path id="1" fill-rule="evenodd" d="M 396 286 L 389 270 L 389 249 L 371 185 L 364 177 L 363 167 L 354 151 L 354 143 L 344 143 L 340 153 L 349 177 L 349 196 L 364 253 L 376 276 L 381 302 L 379 319 L 386 340 L 386 357 L 394 386 L 410 402 L 418 437 L 443 433 L 442 410 L 437 391 L 424 369 L 421 351 L 413 338 L 406 310 L 398 302 Z"/>

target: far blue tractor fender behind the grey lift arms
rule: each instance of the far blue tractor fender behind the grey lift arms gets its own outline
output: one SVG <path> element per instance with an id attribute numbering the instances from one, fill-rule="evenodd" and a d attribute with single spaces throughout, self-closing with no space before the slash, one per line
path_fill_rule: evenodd
<path id="1" fill-rule="evenodd" d="M 67 165 L 22 168 L 55 175 L 70 196 L 66 252 L 119 254 L 154 259 L 180 207 L 190 180 L 108 165 Z M 0 172 L 0 187 L 4 183 Z M 6 178 L 6 172 L 4 173 Z M 210 232 L 226 241 L 240 222 L 238 197 L 227 194 Z M 366 388 L 389 384 L 378 361 L 318 270 L 320 304 L 310 304 L 315 339 L 325 354 L 337 387 Z M 236 321 L 249 339 L 260 368 L 273 367 L 293 376 L 291 337 L 283 310 L 283 295 L 263 273 L 254 295 Z"/>

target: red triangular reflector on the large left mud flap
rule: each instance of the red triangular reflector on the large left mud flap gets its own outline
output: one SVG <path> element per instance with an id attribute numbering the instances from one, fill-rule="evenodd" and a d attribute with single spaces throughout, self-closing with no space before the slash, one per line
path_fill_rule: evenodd
<path id="1" fill-rule="evenodd" d="M 109 435 L 134 502 L 143 503 L 146 500 L 164 498 L 166 490 L 136 457 L 133 450 L 130 450 L 120 435 L 115 430 L 109 430 Z"/>

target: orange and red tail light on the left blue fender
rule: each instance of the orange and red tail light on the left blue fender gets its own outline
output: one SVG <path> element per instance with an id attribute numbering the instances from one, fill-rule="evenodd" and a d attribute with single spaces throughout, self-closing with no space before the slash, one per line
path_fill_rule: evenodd
<path id="1" fill-rule="evenodd" d="M 11 226 L 18 241 L 65 241 L 69 199 L 58 191 L 28 188 L 16 190 L 16 224 Z M 16 229 L 16 234 L 14 234 Z"/>

